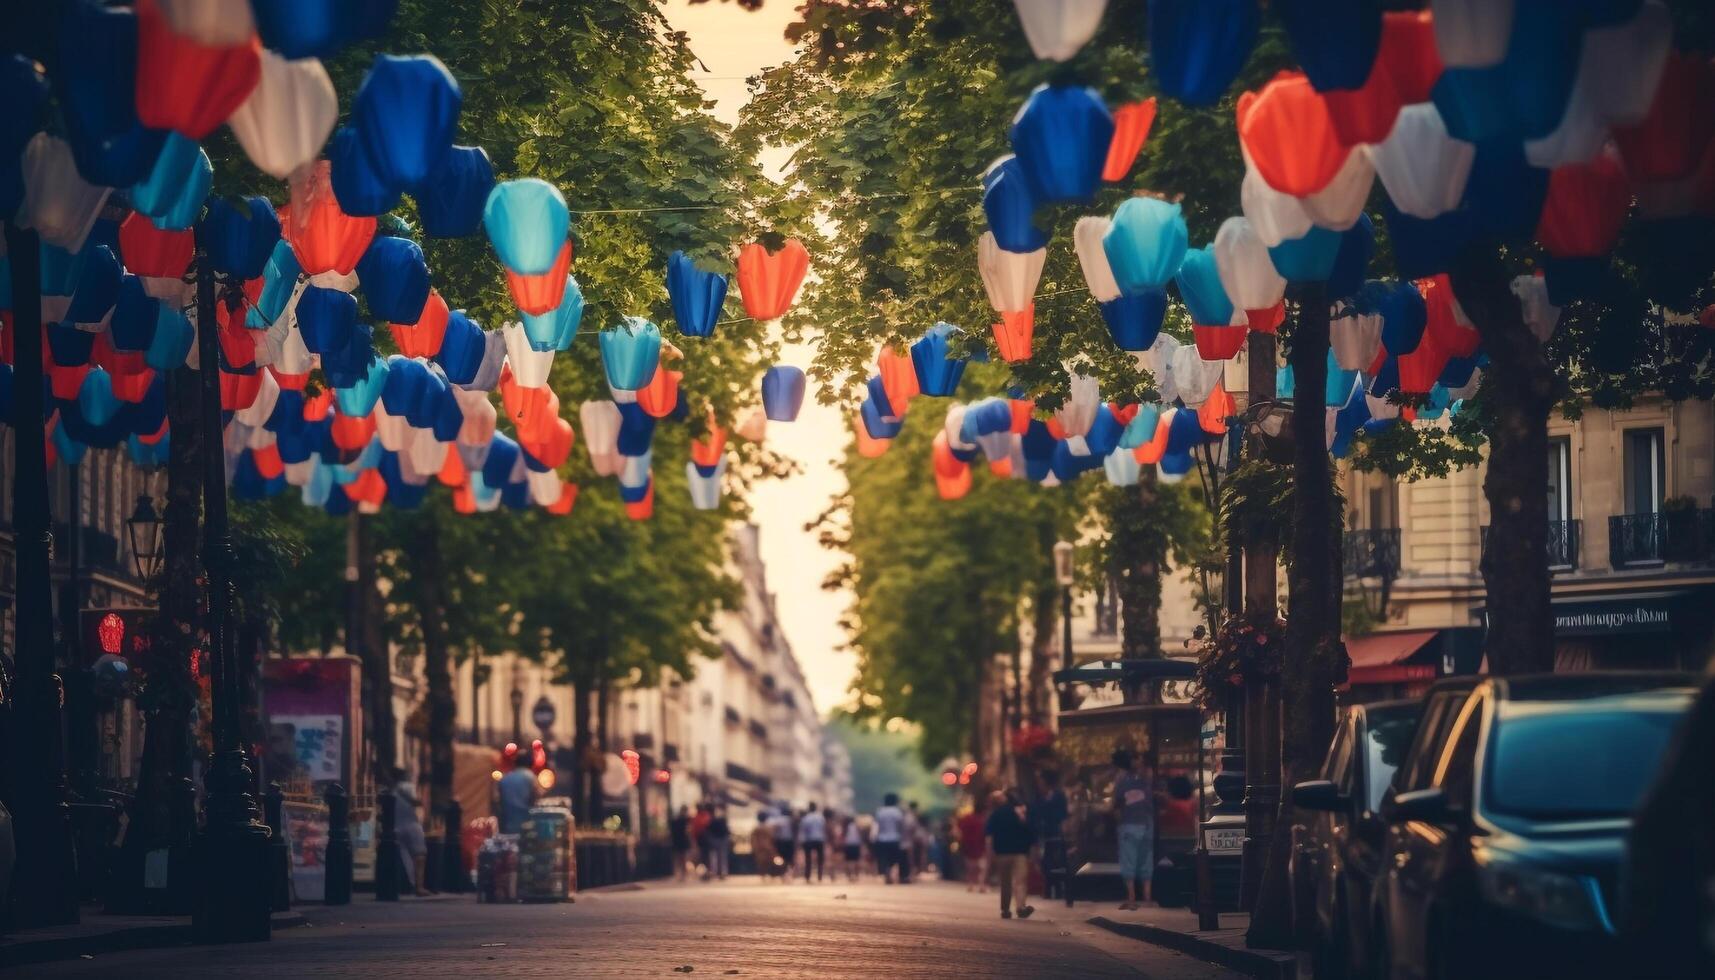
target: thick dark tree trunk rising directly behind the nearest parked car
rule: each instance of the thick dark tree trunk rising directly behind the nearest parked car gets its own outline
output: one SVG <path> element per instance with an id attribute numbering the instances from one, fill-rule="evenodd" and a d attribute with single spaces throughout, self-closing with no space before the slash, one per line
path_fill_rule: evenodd
<path id="1" fill-rule="evenodd" d="M 1453 266 L 1453 292 L 1483 338 L 1494 384 L 1489 438 L 1489 547 L 1483 589 L 1489 673 L 1554 669 L 1554 613 L 1549 608 L 1549 412 L 1554 369 L 1525 326 L 1518 299 L 1494 245 L 1473 245 Z"/>

